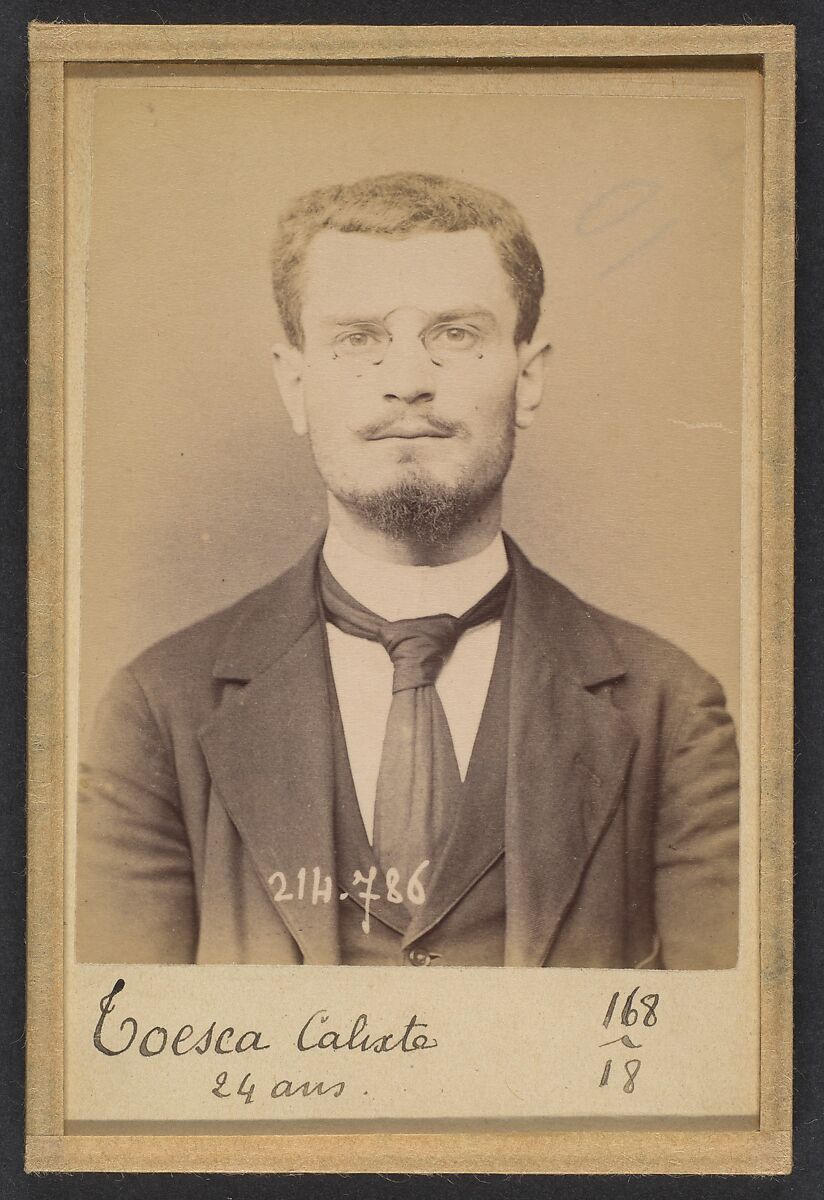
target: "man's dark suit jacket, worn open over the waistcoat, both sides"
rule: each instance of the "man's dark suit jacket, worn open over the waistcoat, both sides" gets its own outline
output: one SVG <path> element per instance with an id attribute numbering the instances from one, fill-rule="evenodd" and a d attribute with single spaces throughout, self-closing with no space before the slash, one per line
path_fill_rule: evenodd
<path id="1" fill-rule="evenodd" d="M 506 964 L 733 966 L 721 689 L 507 547 Z M 337 895 L 277 902 L 269 882 L 335 877 L 318 552 L 116 676 L 82 769 L 80 961 L 339 961 Z"/>

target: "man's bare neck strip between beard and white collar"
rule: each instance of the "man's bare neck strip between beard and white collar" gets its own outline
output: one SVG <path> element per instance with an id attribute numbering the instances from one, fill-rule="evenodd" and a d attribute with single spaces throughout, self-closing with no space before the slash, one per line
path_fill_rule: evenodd
<path id="1" fill-rule="evenodd" d="M 369 558 L 407 566 L 443 566 L 473 558 L 498 536 L 501 527 L 500 493 L 445 542 L 432 545 L 409 538 L 393 538 L 367 524 L 335 496 L 327 493 L 329 523 L 341 539 Z"/>

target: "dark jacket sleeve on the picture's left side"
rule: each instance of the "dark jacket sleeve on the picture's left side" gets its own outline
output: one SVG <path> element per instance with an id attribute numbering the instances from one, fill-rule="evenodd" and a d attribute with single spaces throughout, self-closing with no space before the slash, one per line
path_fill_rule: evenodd
<path id="1" fill-rule="evenodd" d="M 80 766 L 77 853 L 78 961 L 194 961 L 192 858 L 170 752 L 128 668 Z"/>

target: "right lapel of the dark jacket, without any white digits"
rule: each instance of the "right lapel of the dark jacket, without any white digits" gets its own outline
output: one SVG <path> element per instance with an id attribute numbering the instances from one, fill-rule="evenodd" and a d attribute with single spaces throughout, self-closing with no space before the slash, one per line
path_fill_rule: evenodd
<path id="1" fill-rule="evenodd" d="M 622 796 L 637 736 L 594 691 L 624 667 L 587 607 L 507 539 L 515 630 L 506 965 L 541 966 Z"/>

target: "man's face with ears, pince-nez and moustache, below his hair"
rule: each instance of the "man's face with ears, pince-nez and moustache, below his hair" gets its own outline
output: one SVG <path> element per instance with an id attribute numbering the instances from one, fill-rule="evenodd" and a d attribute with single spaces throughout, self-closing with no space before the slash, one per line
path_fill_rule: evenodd
<path id="1" fill-rule="evenodd" d="M 367 520 L 398 494 L 452 497 L 471 515 L 509 469 L 519 379 L 537 353 L 515 344 L 516 302 L 488 234 L 324 230 L 302 296 L 303 350 L 277 348 L 276 364 L 329 491 Z"/>

